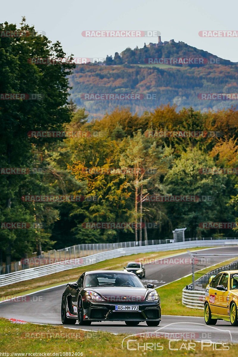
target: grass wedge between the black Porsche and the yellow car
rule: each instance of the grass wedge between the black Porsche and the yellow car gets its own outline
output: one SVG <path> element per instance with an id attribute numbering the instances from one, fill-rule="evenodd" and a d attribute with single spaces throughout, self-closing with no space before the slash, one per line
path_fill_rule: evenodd
<path id="1" fill-rule="evenodd" d="M 237 258 L 232 258 L 224 262 L 218 263 L 212 267 L 207 267 L 202 270 L 199 270 L 199 272 L 195 273 L 194 278 L 196 280 L 201 277 L 201 275 L 204 275 L 211 270 L 222 267 L 223 265 L 226 265 L 234 260 L 237 260 Z M 203 317 L 203 310 L 199 310 L 196 308 L 193 309 L 182 305 L 182 290 L 186 285 L 189 285 L 191 283 L 192 274 L 156 289 L 161 300 L 162 315 Z"/>

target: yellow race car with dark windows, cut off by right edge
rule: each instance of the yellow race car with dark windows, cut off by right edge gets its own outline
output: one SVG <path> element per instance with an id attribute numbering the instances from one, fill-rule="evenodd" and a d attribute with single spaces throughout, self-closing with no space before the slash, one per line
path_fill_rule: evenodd
<path id="1" fill-rule="evenodd" d="M 217 320 L 230 321 L 238 326 L 238 270 L 212 275 L 205 289 L 204 319 L 207 325 Z"/>

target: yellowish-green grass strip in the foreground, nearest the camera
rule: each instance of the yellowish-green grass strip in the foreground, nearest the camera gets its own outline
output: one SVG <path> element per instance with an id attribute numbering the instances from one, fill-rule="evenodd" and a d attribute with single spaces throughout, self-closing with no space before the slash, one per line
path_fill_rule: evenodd
<path id="1" fill-rule="evenodd" d="M 127 326 L 125 325 L 125 331 Z M 148 332 L 156 331 L 156 327 L 148 327 Z M 131 336 L 123 343 L 126 334 L 112 335 L 107 332 L 90 332 L 70 330 L 64 327 L 50 325 L 19 325 L 0 318 L 0 351 L 1 356 L 11 356 L 11 353 L 38 353 L 35 356 L 92 356 L 92 357 L 121 357 L 121 356 L 205 356 L 230 357 L 238 353 L 238 345 L 219 345 L 220 351 L 214 352 L 214 345 L 204 347 L 201 343 L 193 342 L 193 350 L 189 350 L 190 341 L 171 341 L 164 338 L 139 338 Z M 148 336 L 148 335 L 147 335 Z M 127 349 L 127 341 L 128 342 Z M 169 341 L 170 347 L 169 349 Z M 178 350 L 175 350 L 175 349 Z M 222 348 L 226 350 L 222 351 Z M 227 349 L 229 348 L 229 350 Z M 172 350 L 173 349 L 173 350 Z M 60 355 L 61 352 L 61 355 Z M 65 354 L 63 355 L 63 352 Z M 174 353 L 175 352 L 175 353 Z M 8 355 L 6 355 L 8 353 Z M 55 354 L 53 354 L 55 353 Z M 82 354 L 81 354 L 82 353 Z M 16 354 L 15 356 L 19 356 Z M 13 355 L 14 356 L 14 355 Z M 23 356 L 23 355 L 22 355 Z M 31 355 L 32 356 L 32 355 Z"/>

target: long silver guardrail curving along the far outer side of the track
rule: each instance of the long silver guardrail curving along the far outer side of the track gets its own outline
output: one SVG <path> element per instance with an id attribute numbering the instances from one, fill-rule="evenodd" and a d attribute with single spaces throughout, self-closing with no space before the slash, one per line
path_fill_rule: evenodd
<path id="1" fill-rule="evenodd" d="M 131 254 L 161 252 L 167 250 L 187 249 L 194 247 L 214 247 L 223 246 L 229 243 L 238 244 L 236 240 L 209 240 L 209 241 L 189 241 L 179 243 L 157 244 L 152 246 L 141 246 L 131 248 L 119 248 L 107 252 L 101 252 L 90 256 L 71 259 L 63 262 L 57 262 L 41 267 L 30 268 L 9 274 L 0 275 L 0 286 L 14 284 L 15 282 L 39 278 L 42 276 L 54 274 L 60 271 L 69 270 L 81 266 L 87 266 L 92 263 L 102 262 L 107 259 L 118 258 Z"/>

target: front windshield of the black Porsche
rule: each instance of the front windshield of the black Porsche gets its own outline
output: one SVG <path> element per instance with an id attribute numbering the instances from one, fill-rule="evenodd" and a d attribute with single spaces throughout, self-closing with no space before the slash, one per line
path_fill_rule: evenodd
<path id="1" fill-rule="evenodd" d="M 129 286 L 145 288 L 136 275 L 125 273 L 95 273 L 86 275 L 83 287 L 87 288 L 93 286 Z"/>

